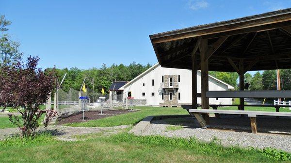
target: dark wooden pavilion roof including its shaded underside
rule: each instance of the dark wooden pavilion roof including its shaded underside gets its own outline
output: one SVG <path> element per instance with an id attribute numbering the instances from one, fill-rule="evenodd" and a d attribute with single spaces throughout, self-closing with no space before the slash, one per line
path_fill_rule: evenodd
<path id="1" fill-rule="evenodd" d="M 207 40 L 212 50 L 223 40 L 208 59 L 210 71 L 236 72 L 240 61 L 246 71 L 287 69 L 291 68 L 291 8 L 158 33 L 150 39 L 162 67 L 191 69 L 198 40 Z M 195 55 L 199 67 L 199 49 Z"/>

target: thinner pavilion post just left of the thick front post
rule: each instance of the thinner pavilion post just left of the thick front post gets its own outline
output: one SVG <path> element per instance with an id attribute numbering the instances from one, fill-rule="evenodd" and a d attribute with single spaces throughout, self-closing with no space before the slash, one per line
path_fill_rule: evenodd
<path id="1" fill-rule="evenodd" d="M 192 109 L 197 109 L 197 65 L 196 56 L 192 54 Z"/>

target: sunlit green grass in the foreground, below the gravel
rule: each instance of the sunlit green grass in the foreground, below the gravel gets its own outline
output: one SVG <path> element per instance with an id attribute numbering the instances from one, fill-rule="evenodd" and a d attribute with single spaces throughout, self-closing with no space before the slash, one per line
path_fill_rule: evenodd
<path id="1" fill-rule="evenodd" d="M 0 142 L 1 163 L 272 163 L 256 149 L 224 148 L 195 139 L 119 133 L 76 142 L 42 136 Z M 288 163 L 288 162 L 286 162 Z M 289 162 L 290 163 L 290 162 Z"/>

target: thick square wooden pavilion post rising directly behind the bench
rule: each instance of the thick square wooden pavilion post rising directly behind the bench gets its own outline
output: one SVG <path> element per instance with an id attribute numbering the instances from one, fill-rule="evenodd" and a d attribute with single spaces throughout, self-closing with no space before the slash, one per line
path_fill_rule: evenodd
<path id="1" fill-rule="evenodd" d="M 200 60 L 201 60 L 201 103 L 202 109 L 209 109 L 209 98 L 206 97 L 208 91 L 208 59 L 206 51 L 208 49 L 208 40 L 201 40 L 200 43 Z M 205 115 L 206 125 L 209 125 L 209 114 Z"/>

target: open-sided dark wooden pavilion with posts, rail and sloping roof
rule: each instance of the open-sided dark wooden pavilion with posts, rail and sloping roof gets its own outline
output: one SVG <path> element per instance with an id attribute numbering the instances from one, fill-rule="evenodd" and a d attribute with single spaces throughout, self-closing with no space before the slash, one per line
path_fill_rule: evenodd
<path id="1" fill-rule="evenodd" d="M 202 109 L 209 109 L 209 97 L 238 97 L 239 110 L 244 110 L 246 97 L 291 97 L 287 90 L 243 89 L 247 71 L 291 68 L 291 8 L 149 37 L 162 67 L 192 70 L 193 109 L 197 108 L 197 70 L 201 70 Z M 237 72 L 240 91 L 208 91 L 209 71 Z"/>

